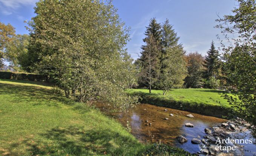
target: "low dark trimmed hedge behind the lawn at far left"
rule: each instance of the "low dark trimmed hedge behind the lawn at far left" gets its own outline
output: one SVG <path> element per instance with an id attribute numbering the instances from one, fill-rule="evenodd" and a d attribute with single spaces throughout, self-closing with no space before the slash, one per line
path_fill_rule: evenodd
<path id="1" fill-rule="evenodd" d="M 45 75 L 22 73 L 22 72 L 0 71 L 0 78 L 14 79 L 14 80 L 29 80 L 29 81 L 48 81 L 48 77 Z"/>

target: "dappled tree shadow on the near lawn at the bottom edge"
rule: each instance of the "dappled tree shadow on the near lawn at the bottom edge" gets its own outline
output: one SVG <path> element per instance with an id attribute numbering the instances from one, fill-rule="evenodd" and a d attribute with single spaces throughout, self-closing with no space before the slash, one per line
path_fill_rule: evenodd
<path id="1" fill-rule="evenodd" d="M 129 150 L 138 149 L 141 144 L 129 136 L 124 136 L 110 129 L 83 130 L 83 127 L 69 126 L 67 128 L 54 128 L 42 133 L 44 142 L 31 142 L 26 140 L 28 151 L 32 155 L 76 155 L 94 156 L 104 155 L 136 155 Z M 140 153 L 141 151 L 139 151 Z"/>

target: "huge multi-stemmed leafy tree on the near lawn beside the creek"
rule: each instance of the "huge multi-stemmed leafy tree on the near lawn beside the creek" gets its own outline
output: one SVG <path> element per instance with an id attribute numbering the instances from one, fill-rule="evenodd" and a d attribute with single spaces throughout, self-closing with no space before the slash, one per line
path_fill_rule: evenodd
<path id="1" fill-rule="evenodd" d="M 39 56 L 35 70 L 52 75 L 76 101 L 97 99 L 118 108 L 137 104 L 123 92 L 134 82 L 124 48 L 129 34 L 111 1 L 40 1 L 35 13 L 29 22 L 31 49 Z"/>

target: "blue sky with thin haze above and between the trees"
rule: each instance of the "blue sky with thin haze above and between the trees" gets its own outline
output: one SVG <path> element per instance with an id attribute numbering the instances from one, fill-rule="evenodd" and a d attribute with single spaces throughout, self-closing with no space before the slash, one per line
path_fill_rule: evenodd
<path id="1" fill-rule="evenodd" d="M 12 24 L 16 33 L 28 33 L 23 21 L 35 16 L 36 1 L 0 0 L 0 21 Z M 229 15 L 236 4 L 235 0 L 113 0 L 120 18 L 131 27 L 127 49 L 135 59 L 141 51 L 145 27 L 153 17 L 159 23 L 169 19 L 187 52 L 205 55 L 212 40 L 219 46 L 216 34 L 221 33 L 214 28 L 218 24 L 216 13 Z"/>

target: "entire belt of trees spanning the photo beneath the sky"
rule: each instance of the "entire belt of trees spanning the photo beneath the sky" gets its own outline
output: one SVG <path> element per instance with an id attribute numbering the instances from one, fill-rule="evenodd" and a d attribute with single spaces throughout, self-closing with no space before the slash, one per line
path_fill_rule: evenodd
<path id="1" fill-rule="evenodd" d="M 182 87 L 226 89 L 238 96 L 225 98 L 239 115 L 255 122 L 255 0 L 238 3 L 234 15 L 216 20 L 232 43 L 222 45 L 224 54 L 213 42 L 205 57 L 187 54 L 169 21 L 152 18 L 134 61 L 125 48 L 129 28 L 111 1 L 39 1 L 28 22 L 29 35 L 0 23 L 0 66 L 5 59 L 17 71 L 50 75 L 76 101 L 97 99 L 123 108 L 138 103 L 138 97 L 124 92 L 132 87 L 161 89 L 163 95 Z M 227 37 L 234 33 L 238 39 Z"/>

